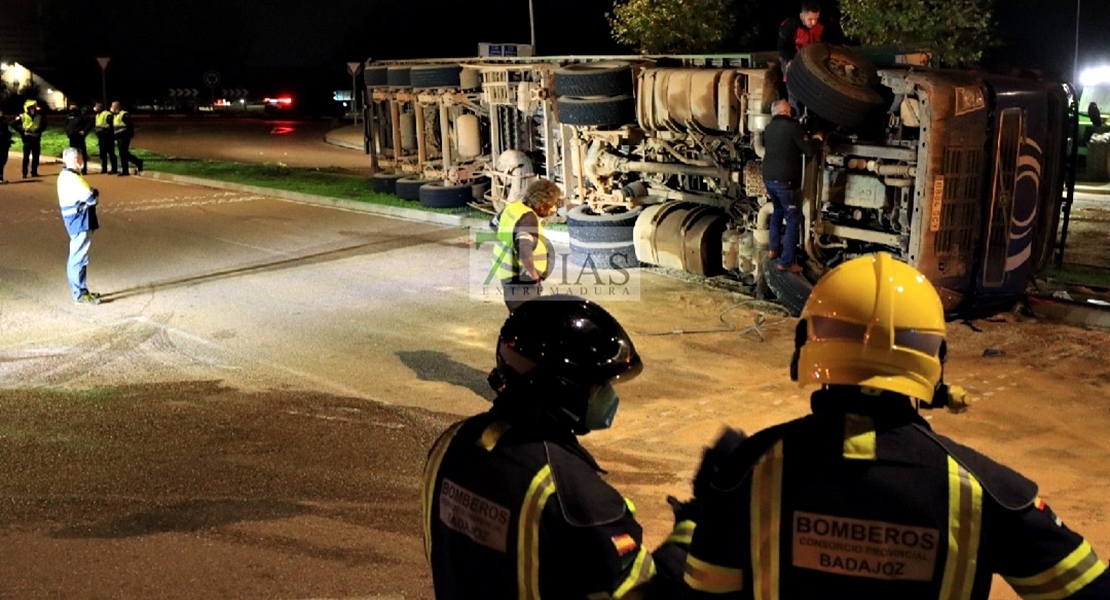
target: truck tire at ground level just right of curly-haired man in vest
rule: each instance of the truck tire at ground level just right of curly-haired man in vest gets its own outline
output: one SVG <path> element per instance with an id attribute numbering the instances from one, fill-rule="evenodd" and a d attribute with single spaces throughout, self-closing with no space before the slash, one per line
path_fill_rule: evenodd
<path id="1" fill-rule="evenodd" d="M 638 267 L 636 258 L 636 218 L 643 206 L 617 213 L 598 214 L 586 204 L 566 213 L 566 230 L 571 238 L 571 262 L 592 262 L 597 268 Z"/>

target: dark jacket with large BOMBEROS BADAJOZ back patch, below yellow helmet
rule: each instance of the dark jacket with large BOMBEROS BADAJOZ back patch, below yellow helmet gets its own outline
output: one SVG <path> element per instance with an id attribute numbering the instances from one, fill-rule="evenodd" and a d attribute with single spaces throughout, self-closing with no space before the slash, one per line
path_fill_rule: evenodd
<path id="1" fill-rule="evenodd" d="M 1110 573 L 1021 475 L 935 434 L 905 396 L 830 388 L 714 482 L 687 598 L 1110 598 Z M 819 591 L 819 592 L 818 592 Z"/>

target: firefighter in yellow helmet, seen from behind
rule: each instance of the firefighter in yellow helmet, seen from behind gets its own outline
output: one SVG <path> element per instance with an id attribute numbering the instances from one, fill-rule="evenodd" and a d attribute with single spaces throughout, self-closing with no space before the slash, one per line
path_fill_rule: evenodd
<path id="1" fill-rule="evenodd" d="M 944 308 L 886 253 L 830 271 L 797 326 L 791 376 L 813 414 L 765 429 L 714 479 L 687 598 L 1110 598 L 1110 573 L 1037 485 L 934 433 L 951 407 Z"/>

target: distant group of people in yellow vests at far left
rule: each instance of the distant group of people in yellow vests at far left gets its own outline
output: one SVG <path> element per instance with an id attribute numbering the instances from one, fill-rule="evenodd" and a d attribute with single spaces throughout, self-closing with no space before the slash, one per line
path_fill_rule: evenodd
<path id="1" fill-rule="evenodd" d="M 23 142 L 23 179 L 39 177 L 39 161 L 42 155 L 42 132 L 47 123 L 42 108 L 37 100 L 23 102 L 23 112 L 14 121 L 9 122 L 0 111 L 0 183 L 4 183 L 3 171 L 8 162 L 8 149 L 14 144 L 12 130 Z M 91 109 L 81 109 L 70 104 L 62 130 L 69 139 L 70 148 L 77 149 L 83 159 L 89 160 L 85 138 L 95 132 L 100 149 L 100 172 L 119 176 L 131 174 L 131 165 L 135 173 L 142 173 L 143 161 L 131 153 L 131 139 L 134 136 L 134 123 L 131 114 L 123 110 L 120 102 L 112 102 L 110 109 L 97 102 Z M 119 160 L 117 160 L 117 150 Z M 81 174 L 88 174 L 88 166 L 82 166 Z"/>

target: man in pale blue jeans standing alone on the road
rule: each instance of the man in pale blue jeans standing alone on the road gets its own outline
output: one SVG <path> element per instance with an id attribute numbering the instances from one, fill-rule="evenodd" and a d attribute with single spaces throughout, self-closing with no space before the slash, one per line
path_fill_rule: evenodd
<path id="1" fill-rule="evenodd" d="M 70 255 L 65 264 L 70 294 L 78 304 L 100 304 L 100 294 L 89 292 L 85 272 L 89 267 L 89 245 L 92 232 L 100 227 L 97 222 L 97 199 L 100 193 L 81 175 L 84 159 L 81 151 L 67 148 L 62 151 L 65 165 L 58 175 L 58 205 L 62 212 L 62 223 L 70 236 Z"/>

